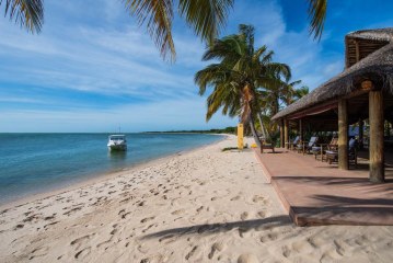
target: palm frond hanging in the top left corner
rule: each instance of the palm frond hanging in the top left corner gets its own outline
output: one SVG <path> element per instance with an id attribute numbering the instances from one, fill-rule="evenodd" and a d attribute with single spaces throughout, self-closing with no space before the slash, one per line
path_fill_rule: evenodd
<path id="1" fill-rule="evenodd" d="M 0 5 L 3 0 L 0 0 Z M 44 23 L 44 4 L 42 0 L 5 0 L 5 14 L 28 32 L 39 33 Z"/>

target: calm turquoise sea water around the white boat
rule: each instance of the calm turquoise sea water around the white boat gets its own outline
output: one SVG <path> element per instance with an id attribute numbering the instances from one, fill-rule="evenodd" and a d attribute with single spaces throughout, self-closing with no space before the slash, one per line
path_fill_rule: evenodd
<path id="1" fill-rule="evenodd" d="M 189 150 L 221 136 L 127 134 L 128 151 L 111 153 L 108 134 L 0 134 L 0 203 Z"/>

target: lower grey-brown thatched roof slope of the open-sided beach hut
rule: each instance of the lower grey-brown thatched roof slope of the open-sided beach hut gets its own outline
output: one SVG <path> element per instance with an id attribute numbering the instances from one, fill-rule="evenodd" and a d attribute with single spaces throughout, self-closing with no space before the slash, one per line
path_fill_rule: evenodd
<path id="1" fill-rule="evenodd" d="M 393 30 L 389 30 L 391 33 Z M 351 33 L 362 37 L 371 37 L 371 33 Z M 372 36 L 374 37 L 374 36 Z M 323 102 L 345 96 L 359 88 L 363 80 L 371 80 L 383 90 L 393 93 L 393 43 L 378 49 L 340 75 L 323 83 L 308 95 L 290 104 L 273 119 L 282 118 L 290 114 L 310 108 Z"/>

